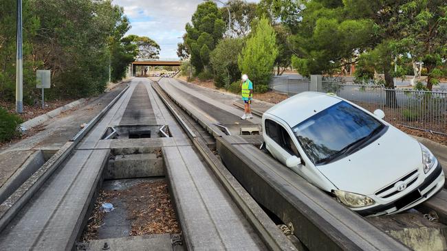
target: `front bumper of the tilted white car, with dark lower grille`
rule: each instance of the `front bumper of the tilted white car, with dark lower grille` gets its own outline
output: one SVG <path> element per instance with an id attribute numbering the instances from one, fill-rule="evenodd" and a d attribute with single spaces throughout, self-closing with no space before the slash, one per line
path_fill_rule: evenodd
<path id="1" fill-rule="evenodd" d="M 414 189 L 410 193 L 402 196 L 402 198 L 399 198 L 389 204 L 378 204 L 366 209 L 358 208 L 358 210 L 353 208 L 353 210 L 356 211 L 356 213 L 364 216 L 378 216 L 400 213 L 402 211 L 413 208 L 417 204 L 421 204 L 422 202 L 431 198 L 437 192 L 441 191 L 441 189 L 444 187 L 444 182 L 444 171 L 442 171 L 441 164 L 438 162 L 435 170 L 433 170 L 432 173 L 428 177 L 426 177 L 424 182 L 422 182 L 422 184 L 420 184 L 417 189 Z M 419 194 L 419 196 L 415 196 L 415 194 Z"/>

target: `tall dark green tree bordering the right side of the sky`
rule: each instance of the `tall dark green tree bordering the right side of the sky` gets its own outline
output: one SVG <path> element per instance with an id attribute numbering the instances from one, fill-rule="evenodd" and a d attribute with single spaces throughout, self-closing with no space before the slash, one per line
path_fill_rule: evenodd
<path id="1" fill-rule="evenodd" d="M 206 57 L 204 45 L 208 47 L 209 51 L 215 48 L 225 31 L 225 23 L 223 23 L 219 8 L 212 1 L 206 1 L 197 6 L 191 23 L 186 24 L 184 45 L 180 45 L 180 47 L 186 48 L 179 48 L 179 51 L 181 55 L 184 51 L 188 51 L 191 64 L 193 64 L 197 73 L 201 73 L 209 64 L 209 57 Z M 201 53 L 202 51 L 203 53 Z"/>

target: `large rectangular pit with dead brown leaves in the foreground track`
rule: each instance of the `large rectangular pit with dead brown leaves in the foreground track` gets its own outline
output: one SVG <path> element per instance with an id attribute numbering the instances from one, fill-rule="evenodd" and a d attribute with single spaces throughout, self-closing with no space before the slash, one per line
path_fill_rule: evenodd
<path id="1" fill-rule="evenodd" d="M 146 152 L 112 152 L 78 246 L 96 250 L 93 247 L 107 241 L 113 250 L 124 237 L 138 238 L 132 240 L 149 246 L 169 241 L 171 246 L 171 241 L 178 238 L 181 230 L 161 151 L 159 147 Z"/>

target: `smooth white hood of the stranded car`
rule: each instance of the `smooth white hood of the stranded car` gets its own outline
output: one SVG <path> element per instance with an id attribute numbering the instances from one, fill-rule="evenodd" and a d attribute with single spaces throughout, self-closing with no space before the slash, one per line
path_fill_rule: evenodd
<path id="1" fill-rule="evenodd" d="M 317 169 L 338 189 L 372 195 L 415 169 L 422 170 L 419 143 L 393 126 L 373 143 Z"/>

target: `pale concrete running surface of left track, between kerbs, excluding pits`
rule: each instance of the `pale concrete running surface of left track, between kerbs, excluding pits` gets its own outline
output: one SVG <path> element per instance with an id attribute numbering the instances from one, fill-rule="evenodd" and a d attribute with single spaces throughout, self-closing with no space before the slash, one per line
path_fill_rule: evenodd
<path id="1" fill-rule="evenodd" d="M 109 126 L 141 123 L 168 125 L 173 137 L 153 141 L 102 140 Z M 150 142 L 162 148 L 188 248 L 265 249 L 230 195 L 154 93 L 149 80 L 135 78 L 126 93 L 0 233 L 0 250 L 72 249 L 102 181 L 102 170 L 112 147 L 124 145 L 125 149 L 144 149 Z"/>

